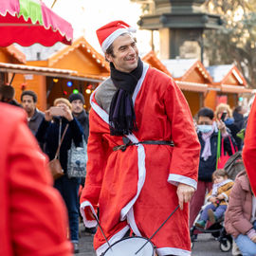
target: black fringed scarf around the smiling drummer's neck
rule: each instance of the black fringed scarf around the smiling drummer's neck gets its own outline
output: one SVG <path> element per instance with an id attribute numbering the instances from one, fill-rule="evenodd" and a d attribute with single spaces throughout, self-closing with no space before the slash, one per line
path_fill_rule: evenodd
<path id="1" fill-rule="evenodd" d="M 109 128 L 112 136 L 129 135 L 137 131 L 136 115 L 132 100 L 138 80 L 143 72 L 143 63 L 138 58 L 137 68 L 130 73 L 117 70 L 110 63 L 111 79 L 119 89 L 113 96 L 109 110 Z"/>

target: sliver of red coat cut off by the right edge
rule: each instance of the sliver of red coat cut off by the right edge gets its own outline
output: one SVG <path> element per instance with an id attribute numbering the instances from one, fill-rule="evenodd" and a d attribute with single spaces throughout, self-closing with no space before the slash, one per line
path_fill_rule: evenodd
<path id="1" fill-rule="evenodd" d="M 256 101 L 253 101 L 248 121 L 243 148 L 243 160 L 252 191 L 256 194 Z"/>

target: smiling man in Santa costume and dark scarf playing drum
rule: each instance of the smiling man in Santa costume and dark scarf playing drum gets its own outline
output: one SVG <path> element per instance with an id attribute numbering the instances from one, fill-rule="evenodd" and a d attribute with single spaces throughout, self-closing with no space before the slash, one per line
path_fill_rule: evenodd
<path id="1" fill-rule="evenodd" d="M 100 224 L 110 245 L 127 233 L 152 239 L 158 255 L 191 255 L 188 202 L 200 153 L 191 112 L 174 80 L 138 57 L 122 21 L 97 30 L 111 75 L 91 96 L 88 163 L 81 211 Z M 101 230 L 97 255 L 107 248 Z"/>

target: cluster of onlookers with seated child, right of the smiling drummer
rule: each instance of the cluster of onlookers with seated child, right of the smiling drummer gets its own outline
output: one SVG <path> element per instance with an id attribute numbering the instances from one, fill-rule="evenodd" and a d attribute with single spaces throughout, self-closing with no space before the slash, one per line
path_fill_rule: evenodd
<path id="1" fill-rule="evenodd" d="M 232 111 L 229 104 L 220 103 L 215 112 L 204 107 L 194 117 L 201 153 L 197 191 L 190 203 L 190 228 L 211 229 L 210 225 L 222 221 L 233 238 L 232 255 L 252 256 L 256 254 L 253 227 L 255 209 L 252 209 L 255 199 L 249 187 L 246 169 L 238 173 L 237 178 L 225 171 L 225 165 L 218 169 L 221 156 L 217 154 L 218 145 L 229 156 L 243 151 L 244 136 L 240 134 L 243 131 L 245 135 L 247 131 L 246 112 L 245 107 L 237 106 Z"/>

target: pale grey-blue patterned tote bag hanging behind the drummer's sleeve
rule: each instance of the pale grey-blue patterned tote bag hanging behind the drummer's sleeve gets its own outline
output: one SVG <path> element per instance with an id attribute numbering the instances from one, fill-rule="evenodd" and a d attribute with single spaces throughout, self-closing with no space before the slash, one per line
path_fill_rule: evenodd
<path id="1" fill-rule="evenodd" d="M 82 136 L 82 147 L 76 147 L 72 140 L 71 148 L 67 151 L 67 176 L 85 177 L 87 160 L 87 144 L 84 137 Z"/>

